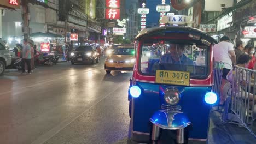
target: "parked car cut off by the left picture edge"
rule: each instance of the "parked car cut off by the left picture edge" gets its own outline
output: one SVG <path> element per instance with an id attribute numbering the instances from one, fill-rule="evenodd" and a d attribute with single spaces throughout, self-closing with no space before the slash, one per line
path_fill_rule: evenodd
<path id="1" fill-rule="evenodd" d="M 3 40 L 0 40 L 0 75 L 3 75 L 7 66 L 11 65 L 10 51 L 5 46 Z"/>

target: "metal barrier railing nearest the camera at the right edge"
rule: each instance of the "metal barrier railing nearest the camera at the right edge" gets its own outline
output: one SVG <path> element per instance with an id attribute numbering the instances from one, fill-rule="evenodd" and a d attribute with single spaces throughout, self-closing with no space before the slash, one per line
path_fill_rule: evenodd
<path id="1" fill-rule="evenodd" d="M 256 137 L 256 70 L 235 66 L 230 79 L 222 121 L 241 125 Z"/>

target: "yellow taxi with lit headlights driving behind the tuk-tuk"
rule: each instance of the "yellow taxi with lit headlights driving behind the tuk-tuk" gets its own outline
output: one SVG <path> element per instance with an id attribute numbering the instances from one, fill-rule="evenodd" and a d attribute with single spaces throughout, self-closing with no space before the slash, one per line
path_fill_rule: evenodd
<path id="1" fill-rule="evenodd" d="M 112 70 L 132 71 L 134 66 L 134 48 L 133 46 L 118 46 L 107 56 L 105 60 L 106 73 Z"/>

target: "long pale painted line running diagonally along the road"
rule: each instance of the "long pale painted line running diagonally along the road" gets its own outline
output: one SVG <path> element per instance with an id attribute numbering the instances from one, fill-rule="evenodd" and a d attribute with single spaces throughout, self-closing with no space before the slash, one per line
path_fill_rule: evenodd
<path id="1" fill-rule="evenodd" d="M 126 81 L 126 80 L 124 80 Z M 124 81 L 121 82 L 121 85 L 119 85 L 117 88 L 115 88 L 112 92 L 110 92 L 109 94 L 107 94 L 105 97 L 103 97 L 102 99 L 100 99 L 99 101 L 97 101 L 95 104 L 92 104 L 91 107 L 89 107 L 87 110 L 85 110 L 84 112 L 78 114 L 77 116 L 75 116 L 74 118 L 68 118 L 65 121 L 62 121 L 60 124 L 56 125 L 54 128 L 52 128 L 51 130 L 47 131 L 46 133 L 44 133 L 43 135 L 39 136 L 36 140 L 34 140 L 31 144 L 42 144 L 45 143 L 46 141 L 48 141 L 49 139 L 51 139 L 51 137 L 53 137 L 54 135 L 56 135 L 57 133 L 59 133 L 63 128 L 67 127 L 69 124 L 71 124 L 73 121 L 75 121 L 75 119 L 78 119 L 80 116 L 84 115 L 84 113 L 88 112 L 90 109 L 92 109 L 92 107 L 94 107 L 95 105 L 97 105 L 98 103 L 100 103 L 103 99 L 107 98 L 109 95 L 111 95 L 113 92 L 117 91 L 118 88 L 120 88 L 121 86 L 123 86 Z"/>

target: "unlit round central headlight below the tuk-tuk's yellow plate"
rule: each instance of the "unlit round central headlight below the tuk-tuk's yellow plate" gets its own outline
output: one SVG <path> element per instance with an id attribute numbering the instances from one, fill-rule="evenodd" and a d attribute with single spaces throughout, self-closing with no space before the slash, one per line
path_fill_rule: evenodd
<path id="1" fill-rule="evenodd" d="M 171 104 L 171 105 L 176 105 L 179 103 L 179 99 L 180 99 L 180 94 L 178 89 L 176 88 L 168 88 L 165 91 L 164 94 L 164 99 L 166 101 L 166 103 Z"/>

